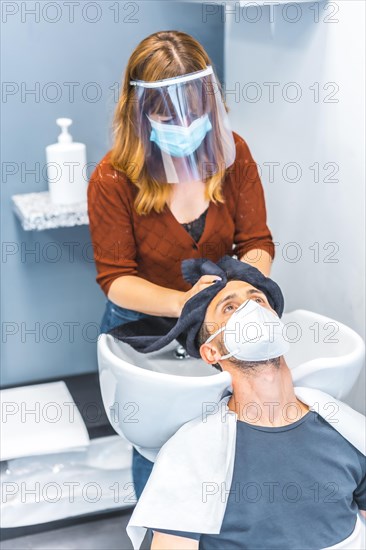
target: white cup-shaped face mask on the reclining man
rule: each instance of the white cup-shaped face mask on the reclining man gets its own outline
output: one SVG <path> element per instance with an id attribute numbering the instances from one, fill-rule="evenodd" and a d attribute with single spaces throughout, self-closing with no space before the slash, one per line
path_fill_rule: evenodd
<path id="1" fill-rule="evenodd" d="M 275 313 L 254 300 L 247 300 L 234 311 L 226 325 L 214 332 L 205 343 L 208 344 L 224 331 L 228 353 L 220 359 L 236 357 L 241 361 L 267 361 L 289 350 L 283 329 L 284 324 Z"/>

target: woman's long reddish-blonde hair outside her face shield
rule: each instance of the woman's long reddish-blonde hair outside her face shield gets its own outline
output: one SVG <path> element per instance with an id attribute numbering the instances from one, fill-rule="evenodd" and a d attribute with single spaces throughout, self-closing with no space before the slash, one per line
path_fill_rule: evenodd
<path id="1" fill-rule="evenodd" d="M 149 214 L 151 210 L 162 212 L 169 200 L 172 185 L 160 183 L 148 173 L 144 148 L 135 131 L 135 87 L 131 86 L 130 80 L 153 82 L 200 71 L 207 65 L 212 65 L 212 62 L 201 44 L 189 34 L 180 31 L 151 34 L 132 52 L 112 122 L 114 143 L 110 162 L 113 168 L 124 172 L 138 188 L 134 206 L 140 215 Z M 222 97 L 218 79 L 217 83 L 218 93 Z M 228 112 L 224 100 L 223 104 Z M 222 166 L 223 163 L 220 163 L 218 171 L 205 178 L 206 200 L 215 203 L 224 202 L 222 182 L 226 169 Z"/>

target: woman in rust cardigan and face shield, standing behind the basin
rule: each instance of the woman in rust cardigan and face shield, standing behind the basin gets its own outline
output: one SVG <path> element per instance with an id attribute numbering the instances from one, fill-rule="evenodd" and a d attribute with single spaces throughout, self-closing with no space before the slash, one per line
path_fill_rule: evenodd
<path id="1" fill-rule="evenodd" d="M 191 36 L 145 38 L 128 62 L 112 149 L 88 186 L 101 332 L 145 315 L 179 317 L 191 287 L 181 261 L 236 255 L 269 275 L 274 245 L 249 148 L 230 130 L 213 65 Z M 153 463 L 135 449 L 137 497 Z"/>

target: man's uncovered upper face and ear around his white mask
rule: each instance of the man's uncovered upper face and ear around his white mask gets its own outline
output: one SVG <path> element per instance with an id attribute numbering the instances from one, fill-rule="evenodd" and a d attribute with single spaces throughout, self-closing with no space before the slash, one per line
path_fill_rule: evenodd
<path id="1" fill-rule="evenodd" d="M 204 323 L 208 333 L 213 334 L 224 326 L 234 311 L 247 300 L 255 300 L 260 306 L 269 309 L 277 315 L 269 305 L 266 295 L 261 290 L 244 281 L 229 281 L 225 288 L 220 290 L 214 297 L 207 308 Z M 220 356 L 222 348 L 220 348 L 216 339 L 222 339 L 222 332 L 210 344 L 202 344 L 200 348 L 202 358 L 208 363 L 217 362 Z"/>

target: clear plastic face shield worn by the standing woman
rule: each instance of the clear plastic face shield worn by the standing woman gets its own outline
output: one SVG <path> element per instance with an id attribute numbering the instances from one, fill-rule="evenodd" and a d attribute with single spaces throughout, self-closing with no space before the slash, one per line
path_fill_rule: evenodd
<path id="1" fill-rule="evenodd" d="M 235 160 L 235 142 L 211 66 L 135 86 L 135 128 L 159 183 L 205 181 Z"/>

